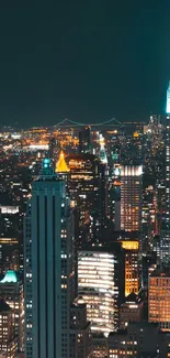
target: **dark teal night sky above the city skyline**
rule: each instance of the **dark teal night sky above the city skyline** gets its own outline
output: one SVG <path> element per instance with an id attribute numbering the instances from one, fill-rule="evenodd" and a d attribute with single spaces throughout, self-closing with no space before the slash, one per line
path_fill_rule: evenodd
<path id="1" fill-rule="evenodd" d="M 168 0 L 1 0 L 0 123 L 162 112 L 169 14 Z"/>

